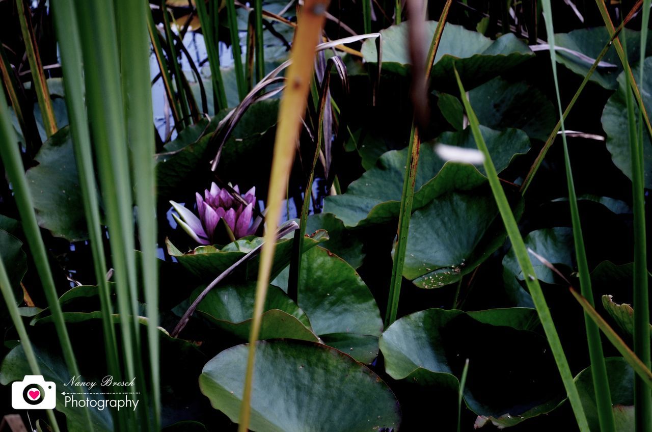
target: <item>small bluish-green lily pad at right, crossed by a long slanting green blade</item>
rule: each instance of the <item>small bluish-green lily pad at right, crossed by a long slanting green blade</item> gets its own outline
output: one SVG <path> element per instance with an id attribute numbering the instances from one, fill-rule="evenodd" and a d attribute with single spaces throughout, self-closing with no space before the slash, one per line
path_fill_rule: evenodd
<path id="1" fill-rule="evenodd" d="M 560 264 L 569 269 L 573 268 L 575 253 L 571 228 L 565 226 L 543 228 L 530 232 L 523 240 L 528 249 L 532 249 L 543 258 L 546 258 L 548 262 L 554 264 L 557 268 L 559 268 Z M 534 271 L 537 273 L 537 279 L 545 283 L 555 283 L 556 275 L 554 272 L 539 261 L 539 258 L 536 256 L 531 253 L 528 253 L 528 255 Z M 505 266 L 505 270 L 510 271 L 519 280 L 525 280 L 518 261 L 516 261 L 514 249 L 509 249 L 509 252 L 503 258 L 503 266 Z"/>

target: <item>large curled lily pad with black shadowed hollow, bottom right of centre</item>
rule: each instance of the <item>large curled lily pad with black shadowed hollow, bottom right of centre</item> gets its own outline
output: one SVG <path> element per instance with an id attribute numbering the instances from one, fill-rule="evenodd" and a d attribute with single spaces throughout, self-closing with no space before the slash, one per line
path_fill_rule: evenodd
<path id="1" fill-rule="evenodd" d="M 563 399 L 563 386 L 546 340 L 504 325 L 522 326 L 523 315 L 501 309 L 479 322 L 462 311 L 427 309 L 404 316 L 380 338 L 385 370 L 420 386 L 450 386 L 469 359 L 464 400 L 484 421 L 506 427 L 550 412 Z M 501 341 L 499 349 L 487 356 L 492 341 Z"/>

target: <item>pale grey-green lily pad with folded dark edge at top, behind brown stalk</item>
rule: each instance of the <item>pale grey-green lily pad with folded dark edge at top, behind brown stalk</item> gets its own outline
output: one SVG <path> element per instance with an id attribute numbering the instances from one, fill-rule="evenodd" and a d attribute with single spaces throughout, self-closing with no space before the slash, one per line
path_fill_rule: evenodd
<path id="1" fill-rule="evenodd" d="M 425 40 L 432 40 L 437 28 L 436 21 L 425 25 Z M 383 69 L 406 75 L 409 70 L 408 22 L 381 30 Z M 368 63 L 378 62 L 375 40 L 365 40 L 363 58 Z M 480 85 L 491 78 L 534 57 L 527 45 L 508 33 L 491 40 L 461 25 L 447 23 L 444 27 L 439 49 L 432 68 L 432 83 L 437 88 L 457 88 L 452 73 L 453 65 L 460 72 L 467 89 Z"/>

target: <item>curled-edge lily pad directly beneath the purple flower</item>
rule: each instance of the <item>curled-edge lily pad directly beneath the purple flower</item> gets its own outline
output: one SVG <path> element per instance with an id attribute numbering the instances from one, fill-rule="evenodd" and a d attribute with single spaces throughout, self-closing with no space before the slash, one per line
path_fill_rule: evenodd
<path id="1" fill-rule="evenodd" d="M 308 251 L 312 247 L 326 241 L 328 234 L 323 230 L 318 230 L 310 237 L 303 238 L 303 250 Z M 235 264 L 240 258 L 243 258 L 251 249 L 254 249 L 262 238 L 255 238 L 252 241 L 240 239 L 230 243 L 222 249 L 215 246 L 200 246 L 190 251 L 190 253 L 181 253 L 170 240 L 166 239 L 168 253 L 174 256 L 179 263 L 190 273 L 196 275 L 203 281 L 210 282 L 224 270 Z M 270 279 L 274 279 L 281 270 L 288 266 L 292 251 L 292 239 L 284 238 L 276 242 L 276 251 L 274 252 L 274 264 Z M 246 278 L 255 280 L 258 275 L 259 256 L 256 256 L 243 264 L 239 271 L 246 272 Z"/>

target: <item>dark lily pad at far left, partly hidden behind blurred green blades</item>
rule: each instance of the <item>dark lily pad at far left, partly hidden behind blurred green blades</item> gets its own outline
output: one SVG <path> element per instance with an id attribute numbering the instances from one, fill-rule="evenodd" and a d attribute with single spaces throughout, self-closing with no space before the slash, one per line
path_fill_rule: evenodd
<path id="1" fill-rule="evenodd" d="M 38 165 L 29 168 L 26 176 L 38 224 L 55 237 L 70 241 L 87 239 L 70 129 L 65 127 L 53 134 L 35 159 Z"/>

